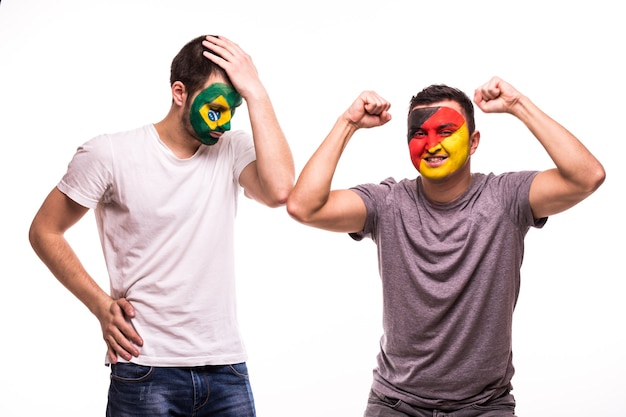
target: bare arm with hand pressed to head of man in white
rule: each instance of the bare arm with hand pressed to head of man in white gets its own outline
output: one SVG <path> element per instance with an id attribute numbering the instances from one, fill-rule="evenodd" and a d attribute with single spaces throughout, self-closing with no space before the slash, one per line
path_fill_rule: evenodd
<path id="1" fill-rule="evenodd" d="M 237 44 L 223 36 L 207 36 L 204 45 L 222 57 L 205 53 L 224 68 L 248 106 L 257 159 L 243 170 L 239 182 L 248 197 L 270 207 L 282 206 L 293 188 L 293 156 L 254 63 Z"/>

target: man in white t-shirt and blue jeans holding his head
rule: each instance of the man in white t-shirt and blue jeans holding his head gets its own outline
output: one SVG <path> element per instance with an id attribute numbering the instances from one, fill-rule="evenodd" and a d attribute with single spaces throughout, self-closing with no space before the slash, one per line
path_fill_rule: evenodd
<path id="1" fill-rule="evenodd" d="M 238 194 L 279 207 L 291 151 L 250 58 L 200 36 L 172 61 L 158 123 L 81 145 L 30 228 L 33 249 L 97 317 L 107 416 L 254 416 L 235 305 Z M 230 131 L 245 99 L 252 134 Z M 110 294 L 64 237 L 94 209 Z"/>

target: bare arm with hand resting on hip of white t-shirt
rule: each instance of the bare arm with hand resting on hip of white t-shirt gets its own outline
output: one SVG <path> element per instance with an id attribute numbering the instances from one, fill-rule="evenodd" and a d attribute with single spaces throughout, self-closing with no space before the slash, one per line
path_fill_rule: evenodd
<path id="1" fill-rule="evenodd" d="M 133 317 L 134 309 L 127 300 L 114 300 L 98 286 L 64 237 L 87 211 L 54 188 L 33 219 L 30 243 L 52 274 L 100 321 L 109 359 L 115 363 L 119 354 L 130 360 L 139 355 L 137 346 L 143 344 L 125 318 Z"/>

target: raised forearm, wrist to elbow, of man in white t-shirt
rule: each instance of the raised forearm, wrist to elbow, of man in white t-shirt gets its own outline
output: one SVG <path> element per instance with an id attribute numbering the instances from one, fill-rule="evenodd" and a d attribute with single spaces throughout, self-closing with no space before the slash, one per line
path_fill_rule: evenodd
<path id="1" fill-rule="evenodd" d="M 259 183 L 274 205 L 283 205 L 293 188 L 295 168 L 287 139 L 278 123 L 272 102 L 264 89 L 248 97 L 248 112 Z"/>

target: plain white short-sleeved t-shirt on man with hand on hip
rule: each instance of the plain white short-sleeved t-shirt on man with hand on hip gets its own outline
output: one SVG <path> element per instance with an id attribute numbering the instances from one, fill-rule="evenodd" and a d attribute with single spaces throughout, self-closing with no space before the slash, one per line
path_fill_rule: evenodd
<path id="1" fill-rule="evenodd" d="M 95 209 L 111 296 L 135 307 L 146 366 L 245 361 L 235 300 L 234 219 L 252 137 L 225 133 L 177 158 L 152 124 L 78 148 L 59 190 Z"/>

